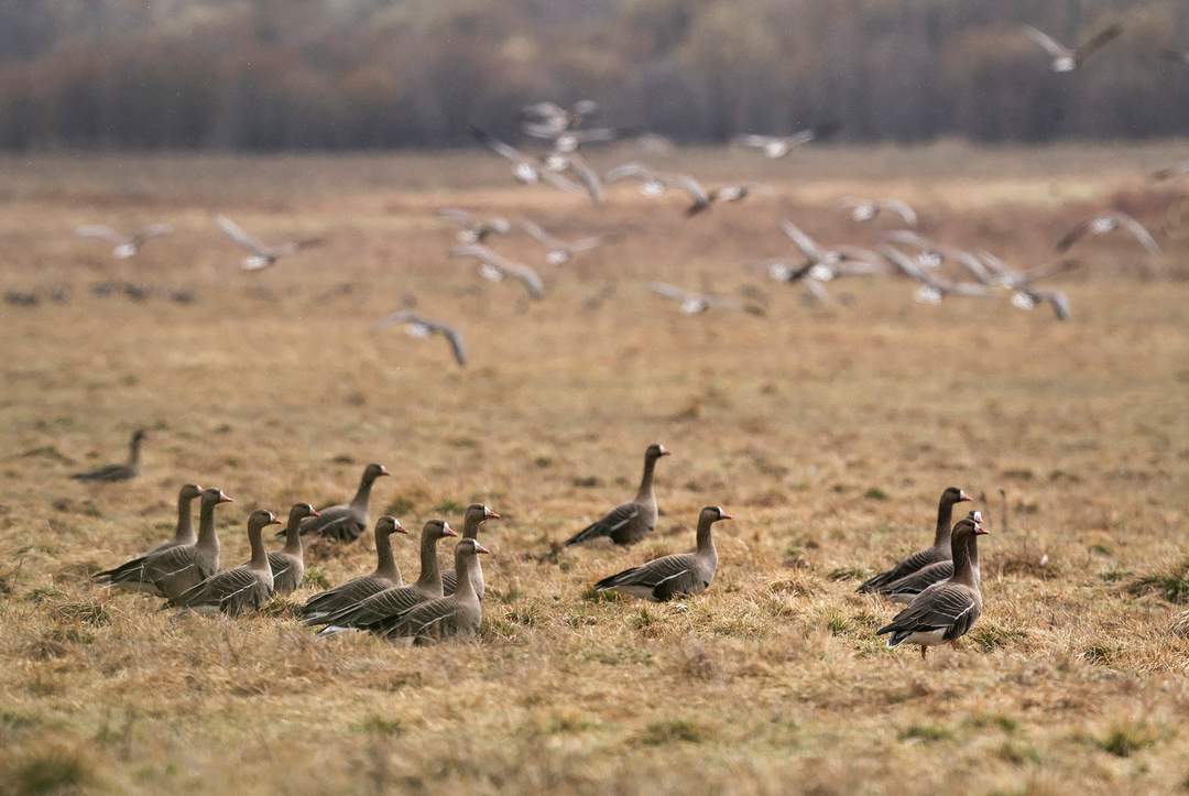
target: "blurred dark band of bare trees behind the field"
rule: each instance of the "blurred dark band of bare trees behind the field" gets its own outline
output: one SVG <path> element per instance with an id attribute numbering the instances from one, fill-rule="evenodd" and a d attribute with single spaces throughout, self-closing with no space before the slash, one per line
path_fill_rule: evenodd
<path id="1" fill-rule="evenodd" d="M 1020 32 L 1067 43 L 1055 75 Z M 449 146 L 590 96 L 682 142 L 1189 134 L 1185 0 L 0 0 L 0 148 Z"/>

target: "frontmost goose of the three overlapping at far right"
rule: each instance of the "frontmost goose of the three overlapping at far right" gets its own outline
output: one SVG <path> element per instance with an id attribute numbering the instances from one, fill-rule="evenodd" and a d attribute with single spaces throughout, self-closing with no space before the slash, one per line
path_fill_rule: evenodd
<path id="1" fill-rule="evenodd" d="M 977 556 L 977 537 L 986 533 L 981 522 L 969 518 L 954 526 L 954 575 L 921 591 L 891 622 L 875 631 L 876 635 L 891 634 L 888 647 L 905 641 L 919 644 L 924 660 L 929 647 L 946 641 L 957 646 L 957 640 L 974 627 L 982 615 L 982 594 L 970 558 L 971 552 Z"/>

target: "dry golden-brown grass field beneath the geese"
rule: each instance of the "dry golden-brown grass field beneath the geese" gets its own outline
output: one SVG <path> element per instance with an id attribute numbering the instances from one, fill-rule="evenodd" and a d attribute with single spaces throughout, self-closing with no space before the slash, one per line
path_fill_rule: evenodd
<path id="1" fill-rule="evenodd" d="M 0 306 L 0 792 L 1189 786 L 1189 244 L 1164 209 L 1177 188 L 1144 180 L 1185 149 L 825 149 L 770 173 L 696 152 L 677 162 L 774 193 L 691 221 L 628 190 L 589 211 L 464 155 L 0 161 L 4 289 L 70 293 Z M 816 308 L 741 265 L 789 253 L 786 217 L 869 243 L 835 200 L 898 192 L 926 232 L 1009 262 L 1046 261 L 1106 206 L 1150 224 L 1166 257 L 1153 269 L 1126 240 L 1092 242 L 1058 283 L 1068 324 L 1004 301 L 923 307 L 892 280 Z M 441 205 L 627 234 L 545 270 L 549 296 L 530 306 L 446 257 Z M 241 274 L 213 212 L 328 243 Z M 156 220 L 176 234 L 128 262 L 69 234 Z M 750 282 L 770 303 L 686 318 L 649 278 Z M 92 295 L 108 280 L 150 295 Z M 440 339 L 369 331 L 407 294 L 460 326 L 467 369 Z M 119 459 L 138 426 L 140 478 L 67 480 Z M 654 440 L 674 456 L 653 538 L 559 550 L 630 497 Z M 480 643 L 315 640 L 289 612 L 314 584 L 232 621 L 88 581 L 171 533 L 187 481 L 235 497 L 219 525 L 235 564 L 251 509 L 345 500 L 371 460 L 394 474 L 373 518 L 460 525 L 471 501 L 504 515 L 483 538 Z M 989 501 L 986 609 L 962 648 L 923 663 L 873 635 L 894 608 L 855 587 L 930 539 L 950 484 Z M 717 526 L 710 591 L 589 596 L 690 549 L 707 503 L 736 516 Z M 375 556 L 370 535 L 307 554 L 329 584 Z"/>

